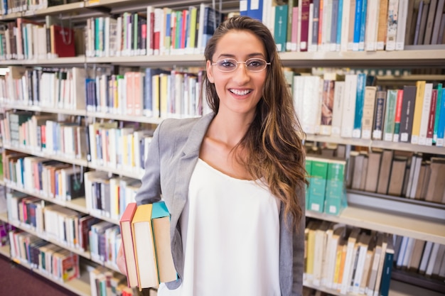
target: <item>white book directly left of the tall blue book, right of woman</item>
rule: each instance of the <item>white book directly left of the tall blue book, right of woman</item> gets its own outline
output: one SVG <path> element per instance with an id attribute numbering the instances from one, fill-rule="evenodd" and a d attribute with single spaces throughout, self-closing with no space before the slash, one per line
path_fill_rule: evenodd
<path id="1" fill-rule="evenodd" d="M 343 119 L 341 137 L 352 138 L 355 117 L 355 99 L 357 97 L 357 75 L 345 75 L 345 102 L 343 102 Z"/>

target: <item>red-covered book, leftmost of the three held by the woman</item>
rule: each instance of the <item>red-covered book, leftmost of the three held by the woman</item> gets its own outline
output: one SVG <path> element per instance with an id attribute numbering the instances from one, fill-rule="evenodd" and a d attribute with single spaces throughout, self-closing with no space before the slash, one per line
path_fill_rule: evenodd
<path id="1" fill-rule="evenodd" d="M 134 256 L 133 234 L 132 234 L 132 220 L 136 212 L 136 203 L 131 202 L 125 208 L 119 220 L 122 236 L 122 248 L 124 248 L 125 265 L 127 268 L 127 285 L 129 287 L 136 287 L 137 272 L 136 272 L 136 257 Z"/>

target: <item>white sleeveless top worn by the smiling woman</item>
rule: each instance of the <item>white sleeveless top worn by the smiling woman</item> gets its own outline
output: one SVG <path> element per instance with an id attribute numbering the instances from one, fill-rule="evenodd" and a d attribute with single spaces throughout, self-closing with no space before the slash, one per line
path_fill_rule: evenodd
<path id="1" fill-rule="evenodd" d="M 159 296 L 279 296 L 279 201 L 198 159 L 179 223 L 183 283 Z"/>

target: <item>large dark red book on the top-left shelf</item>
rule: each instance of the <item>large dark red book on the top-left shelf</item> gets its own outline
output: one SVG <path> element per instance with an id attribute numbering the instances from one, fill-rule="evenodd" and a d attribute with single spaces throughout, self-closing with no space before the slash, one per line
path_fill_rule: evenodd
<path id="1" fill-rule="evenodd" d="M 75 57 L 74 31 L 72 28 L 50 26 L 51 53 L 58 57 Z"/>

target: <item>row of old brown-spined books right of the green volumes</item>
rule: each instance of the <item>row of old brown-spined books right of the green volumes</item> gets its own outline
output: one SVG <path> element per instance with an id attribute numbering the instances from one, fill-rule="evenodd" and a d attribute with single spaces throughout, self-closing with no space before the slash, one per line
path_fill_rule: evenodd
<path id="1" fill-rule="evenodd" d="M 445 204 L 444 174 L 444 157 L 372 148 L 350 152 L 346 186 Z"/>

